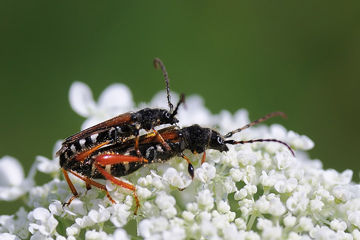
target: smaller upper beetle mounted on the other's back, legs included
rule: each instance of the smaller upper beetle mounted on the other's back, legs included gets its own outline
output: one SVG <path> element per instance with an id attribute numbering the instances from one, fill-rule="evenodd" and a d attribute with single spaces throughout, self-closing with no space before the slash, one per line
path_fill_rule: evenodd
<path id="1" fill-rule="evenodd" d="M 181 103 L 184 102 L 184 95 L 181 94 L 174 109 L 174 106 L 171 103 L 169 77 L 165 66 L 158 58 L 155 58 L 154 65 L 156 69 L 159 67 L 162 69 L 165 77 L 169 111 L 159 108 L 144 108 L 137 112 L 127 112 L 67 137 L 62 143 L 61 149 L 56 153 L 56 157 L 59 156 L 60 158 L 60 166 L 63 169 L 65 179 L 74 194 L 68 202 L 64 203 L 65 205 L 69 205 L 78 195 L 67 173 L 67 170 L 71 171 L 72 167 L 64 167 L 68 166 L 69 162 L 72 162 L 72 160 L 76 159 L 79 161 L 79 159 L 83 159 L 101 147 L 121 143 L 124 139 L 129 137 L 133 137 L 133 145 L 136 149 L 137 156 L 141 157 L 141 152 L 138 150 L 140 129 L 145 129 L 146 131 L 151 132 L 151 134 L 163 144 L 165 149 L 171 150 L 163 137 L 157 130 L 155 130 L 154 127 L 163 124 L 174 125 L 179 122 L 175 115 L 177 114 Z M 76 175 L 76 172 L 72 173 Z M 78 177 L 82 178 L 81 176 Z M 104 186 L 99 183 L 93 181 L 86 182 L 88 189 L 91 185 L 104 189 Z M 110 198 L 110 195 L 108 196 Z"/>

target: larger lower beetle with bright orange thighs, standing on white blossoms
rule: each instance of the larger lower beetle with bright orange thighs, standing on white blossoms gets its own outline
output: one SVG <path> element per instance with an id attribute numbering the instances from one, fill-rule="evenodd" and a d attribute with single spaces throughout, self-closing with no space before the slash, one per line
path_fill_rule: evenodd
<path id="1" fill-rule="evenodd" d="M 136 214 L 137 209 L 140 206 L 136 187 L 130 183 L 123 182 L 116 177 L 129 175 L 147 164 L 164 163 L 175 156 L 180 156 L 188 162 L 188 172 L 193 178 L 194 168 L 190 160 L 183 153 L 186 149 L 192 151 L 194 154 L 203 153 L 201 164 L 205 162 L 206 149 L 227 152 L 229 151 L 227 144 L 236 145 L 253 142 L 277 142 L 286 146 L 291 154 L 294 155 L 294 152 L 287 143 L 277 139 L 256 139 L 248 141 L 226 140 L 234 133 L 240 132 L 245 128 L 278 115 L 283 117 L 286 116 L 282 112 L 270 113 L 265 117 L 255 120 L 252 123 L 225 135 L 221 135 L 211 128 L 201 127 L 198 124 L 183 128 L 170 126 L 158 130 L 159 134 L 170 147 L 170 150 L 164 147 L 155 134 L 147 133 L 139 137 L 137 149 L 135 148 L 135 137 L 129 137 L 123 139 L 122 142 L 98 148 L 89 155 L 84 155 L 81 158 L 75 157 L 70 161 L 60 162 L 60 164 L 64 172 L 65 170 L 70 171 L 83 179 L 87 185 L 99 187 L 101 184 L 95 182 L 93 179 L 108 179 L 117 185 L 132 190 L 136 202 L 136 209 L 134 212 L 134 214 Z M 140 151 L 141 157 L 138 155 L 138 151 Z M 108 198 L 114 202 L 105 185 L 101 185 L 99 188 L 104 190 Z M 75 194 L 73 196 L 73 199 L 74 198 Z"/>

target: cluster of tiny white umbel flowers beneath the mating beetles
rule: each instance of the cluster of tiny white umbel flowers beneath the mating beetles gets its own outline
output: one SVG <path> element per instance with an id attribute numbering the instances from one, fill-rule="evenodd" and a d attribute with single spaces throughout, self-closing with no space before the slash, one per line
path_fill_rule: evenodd
<path id="1" fill-rule="evenodd" d="M 82 129 L 135 105 L 122 84 L 109 86 L 95 102 L 90 88 L 75 82 L 69 99 L 87 118 Z M 165 93 L 156 95 L 150 105 L 167 108 Z M 179 126 L 198 123 L 223 134 L 250 122 L 246 110 L 211 114 L 199 96 L 187 96 L 186 109 L 180 108 L 177 117 Z M 100 181 L 114 204 L 101 190 L 86 190 L 85 183 L 71 174 L 79 197 L 63 207 L 72 192 L 60 175 L 58 159 L 37 156 L 37 170 L 53 177 L 37 186 L 34 170 L 25 178 L 21 164 L 4 156 L 0 199 L 23 196 L 25 202 L 13 215 L 0 216 L 0 239 L 360 239 L 360 186 L 351 182 L 351 170 L 323 169 L 306 153 L 313 142 L 278 124 L 253 126 L 232 137 L 275 138 L 288 143 L 295 156 L 274 142 L 229 145 L 222 153 L 206 150 L 203 164 L 202 155 L 185 151 L 195 168 L 193 179 L 187 162 L 179 157 L 147 165 L 121 178 L 137 185 L 141 207 L 136 216 L 128 189 Z M 59 148 L 60 142 L 54 153 Z M 4 168 L 5 164 L 12 167 Z"/>

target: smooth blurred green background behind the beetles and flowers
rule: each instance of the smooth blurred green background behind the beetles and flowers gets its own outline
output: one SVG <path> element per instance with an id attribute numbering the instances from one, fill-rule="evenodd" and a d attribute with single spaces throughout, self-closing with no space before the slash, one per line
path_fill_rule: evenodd
<path id="1" fill-rule="evenodd" d="M 137 103 L 164 90 L 200 94 L 213 112 L 246 108 L 309 136 L 324 168 L 358 181 L 358 1 L 2 1 L 0 157 L 28 172 L 36 155 L 80 130 L 68 102 L 73 81 L 95 98 L 125 83 Z M 50 178 L 38 173 L 38 183 Z M 1 185 L 1 183 L 0 183 Z M 21 202 L 1 202 L 0 214 Z"/>

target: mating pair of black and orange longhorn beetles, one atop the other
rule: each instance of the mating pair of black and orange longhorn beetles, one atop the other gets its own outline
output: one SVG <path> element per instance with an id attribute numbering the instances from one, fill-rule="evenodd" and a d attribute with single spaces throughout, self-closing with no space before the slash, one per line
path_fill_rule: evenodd
<path id="1" fill-rule="evenodd" d="M 184 95 L 181 95 L 175 110 L 173 110 L 169 78 L 165 67 L 159 59 L 155 59 L 154 64 L 156 68 L 160 66 L 163 71 L 170 110 L 145 108 L 137 112 L 124 113 L 66 138 L 62 148 L 57 152 L 57 156 L 60 157 L 60 166 L 74 195 L 64 205 L 69 205 L 78 196 L 78 192 L 69 178 L 68 171 L 84 180 L 88 189 L 93 185 L 104 190 L 113 203 L 115 201 L 110 196 L 106 186 L 94 181 L 94 179 L 108 179 L 117 185 L 132 190 L 136 202 L 134 212 L 136 214 L 140 206 L 136 187 L 116 177 L 126 176 L 147 164 L 164 163 L 175 156 L 180 156 L 188 162 L 188 172 L 193 178 L 194 168 L 183 153 L 185 149 L 189 149 L 194 154 L 203 153 L 201 163 L 205 162 L 206 149 L 226 152 L 229 150 L 227 144 L 278 142 L 285 145 L 293 154 L 288 144 L 276 139 L 226 140 L 234 133 L 263 122 L 270 117 L 286 117 L 282 112 L 270 113 L 223 136 L 215 130 L 197 124 L 183 128 L 170 126 L 155 130 L 154 127 L 156 126 L 178 123 L 175 115 L 184 101 Z M 140 129 L 145 129 L 148 133 L 139 136 Z"/>

